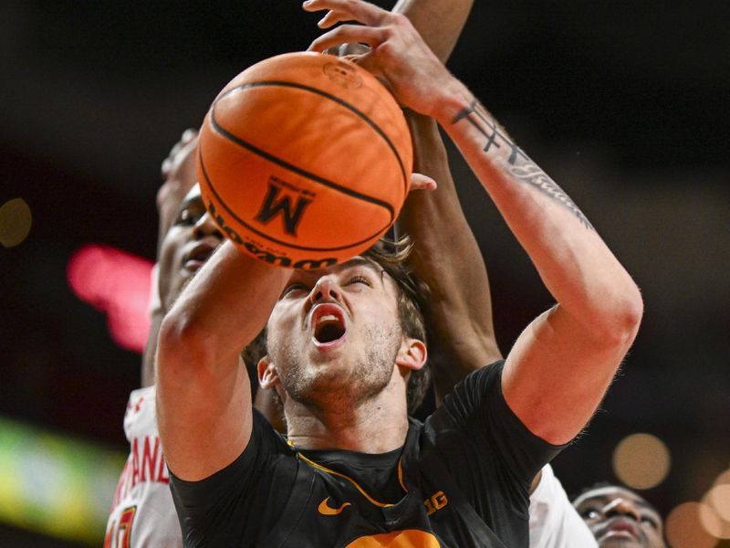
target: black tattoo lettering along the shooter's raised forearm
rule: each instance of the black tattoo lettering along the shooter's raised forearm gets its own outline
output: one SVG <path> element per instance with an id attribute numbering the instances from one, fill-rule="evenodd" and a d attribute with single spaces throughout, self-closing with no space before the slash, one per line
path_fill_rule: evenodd
<path id="1" fill-rule="evenodd" d="M 472 101 L 472 104 L 454 116 L 452 123 L 455 124 L 462 120 L 467 121 L 476 131 L 485 136 L 486 143 L 483 149 L 485 153 L 489 153 L 493 147 L 498 149 L 504 146 L 509 150 L 509 156 L 507 157 L 508 171 L 518 181 L 531 184 L 541 193 L 566 207 L 584 227 L 589 230 L 594 229 L 588 218 L 579 210 L 578 205 L 570 199 L 570 196 L 563 192 L 563 189 L 548 177 L 536 163 L 530 160 L 529 156 L 512 141 L 507 132 L 499 127 L 495 119 L 477 100 Z"/>

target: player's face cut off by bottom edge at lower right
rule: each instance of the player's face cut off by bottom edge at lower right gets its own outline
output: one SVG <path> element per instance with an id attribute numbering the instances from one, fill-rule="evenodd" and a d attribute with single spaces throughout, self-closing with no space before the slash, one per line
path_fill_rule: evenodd
<path id="1" fill-rule="evenodd" d="M 659 513 L 631 490 L 609 486 L 583 493 L 576 510 L 600 548 L 665 548 Z"/>

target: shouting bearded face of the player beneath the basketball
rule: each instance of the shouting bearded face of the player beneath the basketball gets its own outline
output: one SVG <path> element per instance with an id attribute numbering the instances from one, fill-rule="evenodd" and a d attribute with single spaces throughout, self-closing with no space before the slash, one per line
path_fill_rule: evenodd
<path id="1" fill-rule="evenodd" d="M 268 357 L 282 386 L 311 406 L 379 395 L 405 344 L 395 282 L 366 258 L 294 271 L 268 322 Z"/>

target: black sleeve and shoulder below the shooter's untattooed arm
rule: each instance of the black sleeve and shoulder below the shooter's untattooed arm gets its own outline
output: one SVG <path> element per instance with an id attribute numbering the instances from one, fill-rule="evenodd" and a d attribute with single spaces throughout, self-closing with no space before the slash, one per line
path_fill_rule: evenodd
<path id="1" fill-rule="evenodd" d="M 268 507 L 281 501 L 291 488 L 286 473 L 277 474 L 278 458 L 288 451 L 286 442 L 254 410 L 251 439 L 231 464 L 200 481 L 185 481 L 170 474 L 172 500 L 183 530 L 185 546 L 254 545 Z M 281 471 L 281 470 L 279 470 Z M 271 497 L 271 493 L 279 497 Z M 244 516 L 255 512 L 259 518 Z"/>

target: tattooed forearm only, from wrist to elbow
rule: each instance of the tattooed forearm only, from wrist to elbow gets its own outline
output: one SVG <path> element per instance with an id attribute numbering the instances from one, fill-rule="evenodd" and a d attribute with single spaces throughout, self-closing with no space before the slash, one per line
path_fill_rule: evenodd
<path id="1" fill-rule="evenodd" d="M 463 85 L 452 84 L 438 120 L 560 307 L 599 339 L 620 332 L 638 289 L 578 206 Z"/>

